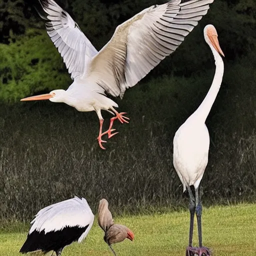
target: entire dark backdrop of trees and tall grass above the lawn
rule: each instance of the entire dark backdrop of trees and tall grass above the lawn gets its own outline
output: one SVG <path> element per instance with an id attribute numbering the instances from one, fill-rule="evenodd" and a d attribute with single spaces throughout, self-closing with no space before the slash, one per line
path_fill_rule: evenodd
<path id="1" fill-rule="evenodd" d="M 97 49 L 116 25 L 155 0 L 58 0 Z M 157 3 L 163 1 L 159 0 Z M 165 211 L 186 205 L 172 166 L 172 138 L 197 108 L 214 74 L 203 27 L 215 25 L 225 53 L 223 82 L 207 118 L 210 154 L 203 203 L 256 198 L 256 3 L 214 0 L 180 47 L 118 100 L 129 124 L 107 150 L 96 143 L 98 120 L 52 102 L 21 97 L 67 88 L 71 80 L 29 2 L 0 3 L 0 214 L 31 219 L 73 195 L 93 211 L 107 198 L 117 212 Z M 110 115 L 103 113 L 105 120 Z M 107 121 L 105 123 L 107 127 Z"/>

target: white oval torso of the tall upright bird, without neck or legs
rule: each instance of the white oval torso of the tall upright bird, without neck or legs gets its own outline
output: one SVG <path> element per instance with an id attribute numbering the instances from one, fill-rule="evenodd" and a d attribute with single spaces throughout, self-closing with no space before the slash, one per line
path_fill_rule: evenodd
<path id="1" fill-rule="evenodd" d="M 206 125 L 189 118 L 176 131 L 173 139 L 173 165 L 183 190 L 199 186 L 208 162 L 209 133 Z"/>

